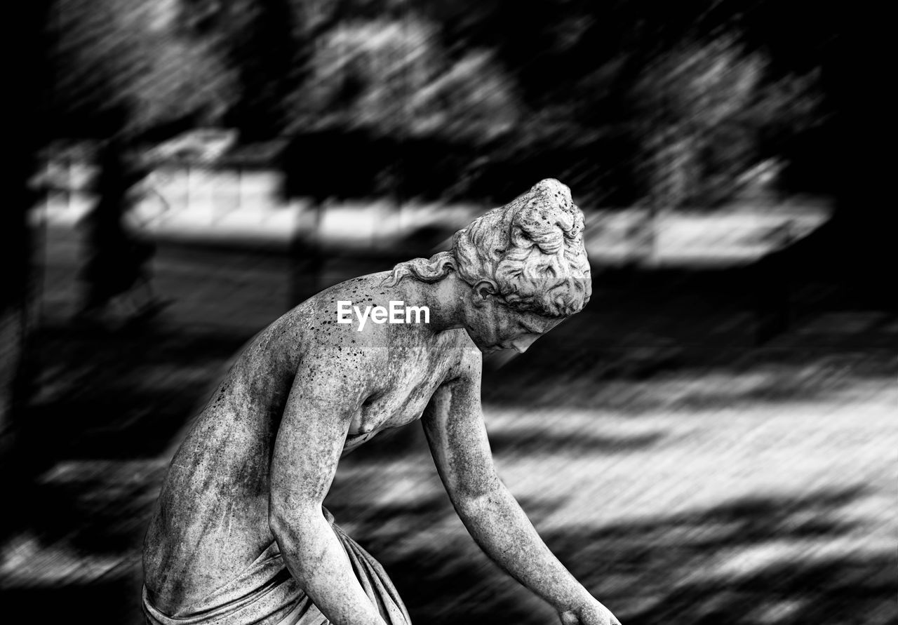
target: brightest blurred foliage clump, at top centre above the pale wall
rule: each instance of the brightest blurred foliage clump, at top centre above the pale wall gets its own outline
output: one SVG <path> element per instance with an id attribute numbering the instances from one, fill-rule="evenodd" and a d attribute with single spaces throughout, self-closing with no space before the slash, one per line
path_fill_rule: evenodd
<path id="1" fill-rule="evenodd" d="M 472 143 L 506 132 L 520 114 L 514 82 L 488 50 L 451 60 L 436 34 L 416 17 L 340 24 L 318 44 L 296 94 L 300 123 Z"/>

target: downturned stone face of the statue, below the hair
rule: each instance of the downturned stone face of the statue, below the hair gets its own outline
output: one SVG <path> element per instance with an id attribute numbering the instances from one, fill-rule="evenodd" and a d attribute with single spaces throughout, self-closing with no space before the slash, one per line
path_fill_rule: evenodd
<path id="1" fill-rule="evenodd" d="M 515 311 L 477 287 L 471 290 L 471 303 L 465 330 L 484 354 L 499 349 L 515 349 L 523 354 L 534 340 L 562 321 L 535 312 Z"/>

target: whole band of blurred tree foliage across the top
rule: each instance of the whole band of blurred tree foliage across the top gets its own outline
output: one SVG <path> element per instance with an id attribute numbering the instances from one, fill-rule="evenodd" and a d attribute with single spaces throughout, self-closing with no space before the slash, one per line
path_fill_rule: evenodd
<path id="1" fill-rule="evenodd" d="M 363 194 L 415 193 L 409 176 L 448 166 L 456 180 L 428 195 L 506 197 L 555 176 L 582 203 L 714 206 L 761 163 L 822 158 L 796 146 L 829 128 L 837 27 L 802 22 L 804 4 L 57 0 L 52 113 L 140 129 L 191 119 L 243 143 L 432 147 L 375 165 Z M 806 28 L 767 34 L 774 18 Z"/>

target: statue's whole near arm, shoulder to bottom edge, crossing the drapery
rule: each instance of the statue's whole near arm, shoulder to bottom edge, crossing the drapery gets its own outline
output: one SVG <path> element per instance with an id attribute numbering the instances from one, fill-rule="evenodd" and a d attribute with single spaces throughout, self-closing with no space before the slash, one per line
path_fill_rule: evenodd
<path id="1" fill-rule="evenodd" d="M 287 568 L 334 625 L 385 625 L 368 599 L 321 503 L 367 381 L 325 363 L 301 366 L 271 458 L 269 524 Z"/>

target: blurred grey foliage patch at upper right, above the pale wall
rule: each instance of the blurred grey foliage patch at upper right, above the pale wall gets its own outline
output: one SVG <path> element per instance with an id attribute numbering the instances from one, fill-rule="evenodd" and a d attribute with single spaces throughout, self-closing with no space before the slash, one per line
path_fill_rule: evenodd
<path id="1" fill-rule="evenodd" d="M 740 174 L 766 156 L 762 136 L 785 141 L 819 119 L 816 75 L 770 80 L 768 66 L 726 35 L 646 67 L 630 97 L 653 205 L 713 207 L 733 198 Z"/>

